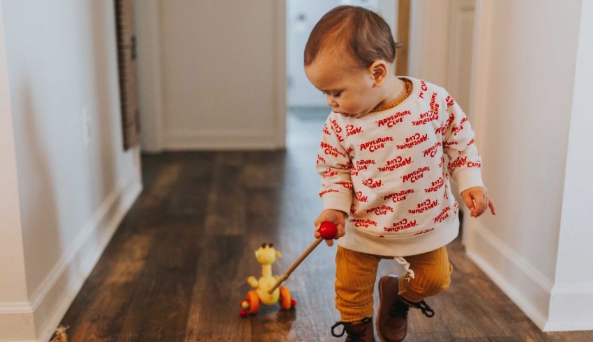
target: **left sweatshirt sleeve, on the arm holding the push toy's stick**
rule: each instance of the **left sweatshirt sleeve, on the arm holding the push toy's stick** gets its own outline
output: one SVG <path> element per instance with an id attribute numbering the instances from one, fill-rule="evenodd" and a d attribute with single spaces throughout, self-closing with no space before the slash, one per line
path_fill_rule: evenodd
<path id="1" fill-rule="evenodd" d="M 348 214 L 352 203 L 352 164 L 342 145 L 342 131 L 343 128 L 330 115 L 323 127 L 315 168 L 322 176 L 319 194 L 324 210 L 341 210 Z"/>

